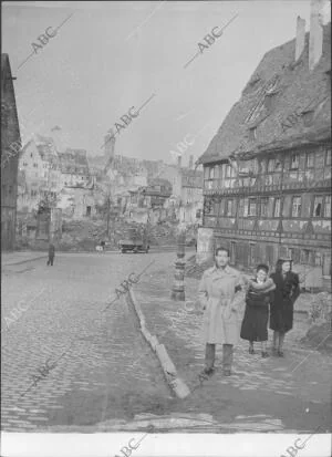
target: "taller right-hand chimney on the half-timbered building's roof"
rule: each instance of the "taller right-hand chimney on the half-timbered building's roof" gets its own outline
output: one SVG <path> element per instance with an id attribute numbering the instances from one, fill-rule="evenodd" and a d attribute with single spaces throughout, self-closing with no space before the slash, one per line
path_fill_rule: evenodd
<path id="1" fill-rule="evenodd" d="M 309 70 L 313 70 L 323 52 L 323 9 L 324 0 L 311 0 L 310 4 L 310 38 L 309 38 Z"/>

